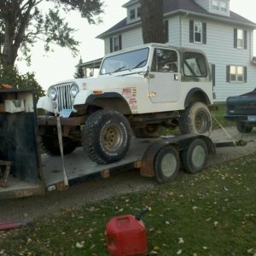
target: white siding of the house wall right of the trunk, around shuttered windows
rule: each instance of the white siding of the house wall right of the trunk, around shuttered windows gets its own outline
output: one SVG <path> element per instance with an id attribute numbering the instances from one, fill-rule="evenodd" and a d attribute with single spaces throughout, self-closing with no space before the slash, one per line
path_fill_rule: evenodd
<path id="1" fill-rule="evenodd" d="M 189 20 L 207 23 L 207 44 L 189 43 Z M 236 26 L 198 19 L 196 16 L 183 18 L 182 22 L 182 46 L 202 49 L 206 53 L 208 61 L 215 64 L 216 102 L 224 102 L 228 96 L 240 95 L 255 88 L 256 67 L 250 62 L 252 60 L 253 31 L 239 26 L 241 29 L 247 29 L 247 49 L 235 49 L 234 27 Z M 247 83 L 227 83 L 226 66 L 228 65 L 247 67 Z"/>

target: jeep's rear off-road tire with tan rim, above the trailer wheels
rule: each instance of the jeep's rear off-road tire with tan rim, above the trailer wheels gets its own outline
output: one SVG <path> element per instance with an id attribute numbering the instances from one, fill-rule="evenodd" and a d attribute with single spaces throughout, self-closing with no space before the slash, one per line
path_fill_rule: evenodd
<path id="1" fill-rule="evenodd" d="M 210 132 L 212 130 L 212 118 L 207 106 L 202 102 L 195 102 L 181 111 L 179 129 L 183 134 Z"/>

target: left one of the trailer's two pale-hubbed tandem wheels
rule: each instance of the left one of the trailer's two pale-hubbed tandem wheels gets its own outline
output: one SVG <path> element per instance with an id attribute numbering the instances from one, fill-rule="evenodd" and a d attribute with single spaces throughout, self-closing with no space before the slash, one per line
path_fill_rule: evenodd
<path id="1" fill-rule="evenodd" d="M 180 167 L 178 151 L 172 146 L 161 148 L 154 159 L 154 174 L 158 182 L 166 183 L 177 177 Z"/>

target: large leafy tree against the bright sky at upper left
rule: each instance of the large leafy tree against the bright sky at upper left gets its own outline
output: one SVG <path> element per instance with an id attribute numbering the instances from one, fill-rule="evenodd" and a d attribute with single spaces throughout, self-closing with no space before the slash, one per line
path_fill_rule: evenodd
<path id="1" fill-rule="evenodd" d="M 13 68 L 19 49 L 29 60 L 30 49 L 38 40 L 44 41 L 46 51 L 58 44 L 76 54 L 79 42 L 61 15 L 76 11 L 89 23 L 96 23 L 102 8 L 102 0 L 0 0 L 1 66 Z"/>

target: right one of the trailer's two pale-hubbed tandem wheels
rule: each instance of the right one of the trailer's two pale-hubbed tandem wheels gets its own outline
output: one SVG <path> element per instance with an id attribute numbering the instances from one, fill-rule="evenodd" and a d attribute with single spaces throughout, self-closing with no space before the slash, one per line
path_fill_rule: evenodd
<path id="1" fill-rule="evenodd" d="M 207 165 L 207 144 L 201 138 L 195 139 L 189 144 L 189 148 L 183 149 L 181 152 L 181 159 L 183 162 L 183 168 L 186 172 L 201 172 L 201 170 Z"/>

